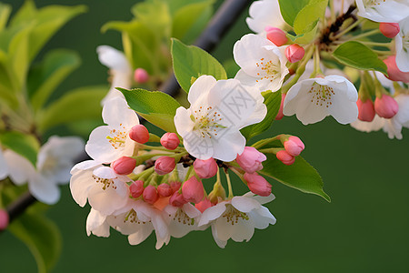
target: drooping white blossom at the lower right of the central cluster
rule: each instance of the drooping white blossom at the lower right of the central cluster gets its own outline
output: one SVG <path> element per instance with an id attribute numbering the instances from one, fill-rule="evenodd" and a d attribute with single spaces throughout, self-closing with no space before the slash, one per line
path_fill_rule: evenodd
<path id="1" fill-rule="evenodd" d="M 246 193 L 222 201 L 204 211 L 198 227 L 210 224 L 214 241 L 220 248 L 225 247 L 229 238 L 236 242 L 249 241 L 254 228 L 264 229 L 275 224 L 274 216 L 262 206 L 273 199 L 274 195 L 254 197 L 253 193 Z"/>

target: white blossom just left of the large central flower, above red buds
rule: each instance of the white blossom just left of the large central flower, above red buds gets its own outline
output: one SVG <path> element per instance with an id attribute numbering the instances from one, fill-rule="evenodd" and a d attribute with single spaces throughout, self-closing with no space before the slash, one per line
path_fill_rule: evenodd
<path id="1" fill-rule="evenodd" d="M 115 97 L 105 103 L 102 113 L 106 126 L 96 127 L 85 145 L 86 153 L 101 163 L 111 163 L 119 157 L 132 157 L 135 141 L 128 134 L 139 124 L 135 111 L 124 98 Z"/>

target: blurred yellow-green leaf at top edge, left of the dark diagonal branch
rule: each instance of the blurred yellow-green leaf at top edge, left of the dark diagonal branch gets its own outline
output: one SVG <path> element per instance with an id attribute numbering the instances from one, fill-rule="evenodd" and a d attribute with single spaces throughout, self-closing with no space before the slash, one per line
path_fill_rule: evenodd
<path id="1" fill-rule="evenodd" d="M 214 0 L 208 0 L 204 2 L 185 5 L 175 12 L 175 17 L 172 25 L 172 36 L 184 41 L 185 43 L 191 43 L 192 30 L 195 35 L 201 33 L 205 28 L 210 15 L 212 14 Z"/>

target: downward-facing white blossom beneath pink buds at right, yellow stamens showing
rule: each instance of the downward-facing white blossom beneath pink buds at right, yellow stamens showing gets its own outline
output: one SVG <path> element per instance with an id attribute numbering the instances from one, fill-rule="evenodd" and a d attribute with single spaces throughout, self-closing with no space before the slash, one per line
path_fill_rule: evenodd
<path id="1" fill-rule="evenodd" d="M 285 116 L 296 114 L 304 125 L 334 116 L 341 124 L 356 120 L 358 93 L 344 76 L 305 79 L 290 88 L 284 100 Z"/>

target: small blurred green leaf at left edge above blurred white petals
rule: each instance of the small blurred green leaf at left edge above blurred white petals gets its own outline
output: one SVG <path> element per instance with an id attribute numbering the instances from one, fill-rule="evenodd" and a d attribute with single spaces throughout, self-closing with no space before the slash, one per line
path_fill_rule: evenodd
<path id="1" fill-rule="evenodd" d="M 40 143 L 35 136 L 9 131 L 0 134 L 1 144 L 15 153 L 27 158 L 35 167 Z"/>

